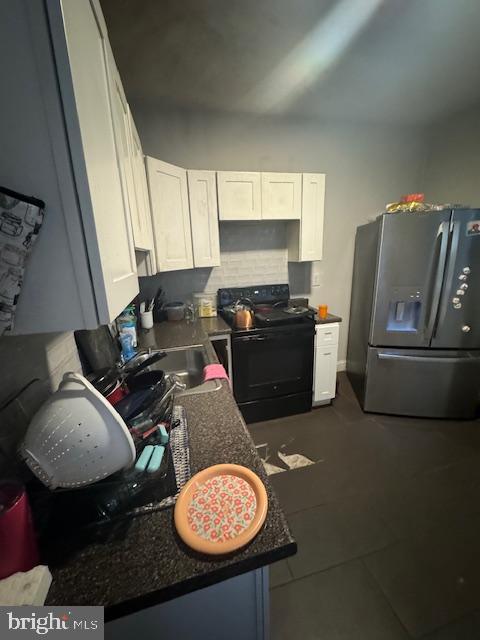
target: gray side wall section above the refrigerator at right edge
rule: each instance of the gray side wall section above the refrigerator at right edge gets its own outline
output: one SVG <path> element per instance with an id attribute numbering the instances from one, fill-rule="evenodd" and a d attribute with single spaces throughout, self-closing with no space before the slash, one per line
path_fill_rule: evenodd
<path id="1" fill-rule="evenodd" d="M 480 108 L 433 126 L 428 149 L 423 179 L 427 200 L 480 207 Z"/>

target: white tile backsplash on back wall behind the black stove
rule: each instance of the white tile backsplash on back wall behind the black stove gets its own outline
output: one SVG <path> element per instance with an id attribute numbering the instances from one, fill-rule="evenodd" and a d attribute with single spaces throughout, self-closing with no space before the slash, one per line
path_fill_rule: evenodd
<path id="1" fill-rule="evenodd" d="M 153 296 L 161 286 L 167 300 L 187 300 L 193 292 L 289 281 L 285 222 L 221 222 L 220 252 L 219 267 L 140 278 L 141 294 Z"/>

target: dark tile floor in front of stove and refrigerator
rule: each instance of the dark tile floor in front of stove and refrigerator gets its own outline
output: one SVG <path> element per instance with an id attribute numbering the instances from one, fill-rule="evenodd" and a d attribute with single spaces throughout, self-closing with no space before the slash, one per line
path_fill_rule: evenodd
<path id="1" fill-rule="evenodd" d="M 271 476 L 298 543 L 272 640 L 480 638 L 480 421 L 364 414 L 340 374 L 331 406 L 249 428 L 315 462 Z"/>

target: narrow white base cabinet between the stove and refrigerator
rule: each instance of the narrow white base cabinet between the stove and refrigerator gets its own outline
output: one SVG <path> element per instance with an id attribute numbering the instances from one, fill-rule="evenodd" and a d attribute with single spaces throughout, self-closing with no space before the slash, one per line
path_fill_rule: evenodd
<path id="1" fill-rule="evenodd" d="M 313 406 L 330 404 L 337 383 L 338 322 L 317 324 L 313 364 Z"/>

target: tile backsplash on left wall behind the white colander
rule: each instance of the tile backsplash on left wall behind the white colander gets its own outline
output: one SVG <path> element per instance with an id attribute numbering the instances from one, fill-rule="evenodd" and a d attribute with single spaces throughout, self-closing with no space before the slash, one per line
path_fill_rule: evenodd
<path id="1" fill-rule="evenodd" d="M 57 390 L 63 374 L 81 371 L 81 365 L 72 332 L 3 336 L 0 362 L 0 406 L 31 382 L 0 411 L 0 473 L 5 473 L 32 416 Z"/>

